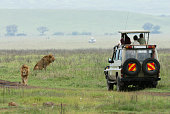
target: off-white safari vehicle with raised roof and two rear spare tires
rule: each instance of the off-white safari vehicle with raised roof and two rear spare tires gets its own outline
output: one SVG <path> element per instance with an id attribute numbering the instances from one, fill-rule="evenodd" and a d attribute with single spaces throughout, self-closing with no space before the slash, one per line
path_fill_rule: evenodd
<path id="1" fill-rule="evenodd" d="M 149 31 L 119 31 L 123 33 L 144 34 L 145 45 L 121 45 L 113 48 L 112 58 L 109 58 L 109 66 L 105 67 L 104 74 L 108 90 L 113 90 L 117 85 L 117 91 L 123 91 L 129 85 L 139 87 L 156 88 L 159 77 L 160 64 L 156 45 L 149 44 Z M 131 39 L 132 41 L 132 39 Z"/>

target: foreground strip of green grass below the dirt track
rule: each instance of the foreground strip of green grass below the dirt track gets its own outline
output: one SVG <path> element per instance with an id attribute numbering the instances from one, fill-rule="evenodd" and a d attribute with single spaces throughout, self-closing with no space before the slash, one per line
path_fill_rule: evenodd
<path id="1" fill-rule="evenodd" d="M 3 89 L 1 89 L 3 91 Z M 66 113 L 103 113 L 103 112 L 169 112 L 169 97 L 150 96 L 135 92 L 109 92 L 100 89 L 8 89 L 1 96 L 1 108 L 5 112 L 47 113 L 60 112 L 61 103 Z M 7 103 L 15 101 L 18 108 L 7 107 Z M 53 102 L 54 107 L 43 107 L 44 102 Z M 37 104 L 37 106 L 33 106 Z M 39 112 L 36 112 L 39 113 Z"/>

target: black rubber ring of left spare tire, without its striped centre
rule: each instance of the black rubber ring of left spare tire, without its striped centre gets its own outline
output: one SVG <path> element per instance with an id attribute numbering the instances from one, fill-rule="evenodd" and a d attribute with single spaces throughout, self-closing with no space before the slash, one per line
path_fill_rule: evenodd
<path id="1" fill-rule="evenodd" d="M 129 67 L 129 64 L 131 64 L 131 63 L 136 64 L 136 70 L 135 71 L 129 71 L 128 67 Z M 129 58 L 123 64 L 123 73 L 126 74 L 126 75 L 135 76 L 135 75 L 138 75 L 138 73 L 140 71 L 141 71 L 141 64 L 135 58 Z"/>

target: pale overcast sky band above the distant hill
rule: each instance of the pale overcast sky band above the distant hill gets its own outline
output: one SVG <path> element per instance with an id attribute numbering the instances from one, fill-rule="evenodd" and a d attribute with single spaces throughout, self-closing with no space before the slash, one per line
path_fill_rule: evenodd
<path id="1" fill-rule="evenodd" d="M 0 8 L 123 10 L 170 15 L 170 0 L 0 0 Z"/>

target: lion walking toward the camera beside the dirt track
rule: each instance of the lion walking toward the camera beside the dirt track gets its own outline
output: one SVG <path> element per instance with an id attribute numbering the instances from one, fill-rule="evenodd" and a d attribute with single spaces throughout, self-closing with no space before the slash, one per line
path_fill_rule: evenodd
<path id="1" fill-rule="evenodd" d="M 23 85 L 27 85 L 28 74 L 29 74 L 29 67 L 25 64 L 22 65 L 22 67 L 21 67 L 21 78 L 22 78 L 22 84 Z"/>

